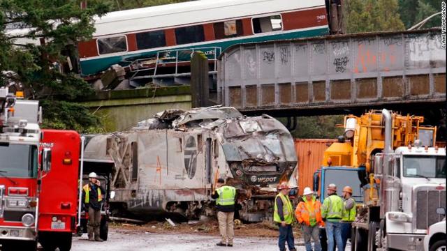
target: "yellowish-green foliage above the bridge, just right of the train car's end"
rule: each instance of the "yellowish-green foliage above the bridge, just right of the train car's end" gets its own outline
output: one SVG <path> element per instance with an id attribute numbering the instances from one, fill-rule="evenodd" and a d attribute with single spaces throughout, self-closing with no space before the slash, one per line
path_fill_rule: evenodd
<path id="1" fill-rule="evenodd" d="M 347 33 L 404 29 L 397 0 L 349 0 L 344 3 Z"/>

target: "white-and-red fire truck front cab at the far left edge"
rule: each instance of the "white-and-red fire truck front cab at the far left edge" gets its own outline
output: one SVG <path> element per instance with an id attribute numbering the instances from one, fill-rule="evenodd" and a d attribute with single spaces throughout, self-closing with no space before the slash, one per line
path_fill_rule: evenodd
<path id="1" fill-rule="evenodd" d="M 35 250 L 41 171 L 49 168 L 50 153 L 39 155 L 38 101 L 17 96 L 0 88 L 0 244 L 2 250 Z"/>

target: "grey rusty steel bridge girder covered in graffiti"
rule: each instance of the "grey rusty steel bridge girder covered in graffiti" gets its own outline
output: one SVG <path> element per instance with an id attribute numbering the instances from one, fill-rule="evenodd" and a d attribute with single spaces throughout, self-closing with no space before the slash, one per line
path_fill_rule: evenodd
<path id="1" fill-rule="evenodd" d="M 219 68 L 219 100 L 242 111 L 446 98 L 439 29 L 237 45 Z"/>

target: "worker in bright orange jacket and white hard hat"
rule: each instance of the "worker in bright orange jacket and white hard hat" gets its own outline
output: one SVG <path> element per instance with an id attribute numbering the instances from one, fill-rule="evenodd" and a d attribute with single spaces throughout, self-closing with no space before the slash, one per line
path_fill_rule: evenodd
<path id="1" fill-rule="evenodd" d="M 315 198 L 310 188 L 305 188 L 302 201 L 295 210 L 295 217 L 302 225 L 302 234 L 305 238 L 306 251 L 312 251 L 311 237 L 314 239 L 314 250 L 320 251 L 320 226 L 324 225 L 321 218 L 321 203 Z"/>

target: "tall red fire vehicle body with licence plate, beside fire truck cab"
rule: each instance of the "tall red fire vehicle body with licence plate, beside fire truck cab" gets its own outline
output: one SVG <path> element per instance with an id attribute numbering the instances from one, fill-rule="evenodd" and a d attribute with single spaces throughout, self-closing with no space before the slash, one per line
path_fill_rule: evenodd
<path id="1" fill-rule="evenodd" d="M 70 250 L 78 225 L 80 135 L 72 130 L 42 132 L 41 149 L 51 149 L 51 165 L 41 178 L 38 241 L 45 250 Z"/>

